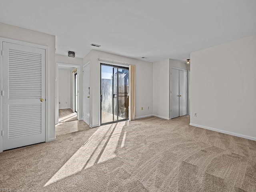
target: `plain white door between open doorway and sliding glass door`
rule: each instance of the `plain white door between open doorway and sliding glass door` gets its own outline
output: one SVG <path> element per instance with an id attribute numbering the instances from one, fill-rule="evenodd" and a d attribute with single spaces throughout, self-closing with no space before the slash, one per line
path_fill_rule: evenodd
<path id="1" fill-rule="evenodd" d="M 90 125 L 90 63 L 83 68 L 83 92 L 84 122 Z"/>

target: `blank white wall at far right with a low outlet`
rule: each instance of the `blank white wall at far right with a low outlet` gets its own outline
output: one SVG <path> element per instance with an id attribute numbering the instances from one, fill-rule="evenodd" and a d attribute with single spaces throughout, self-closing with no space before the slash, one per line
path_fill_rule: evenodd
<path id="1" fill-rule="evenodd" d="M 191 125 L 256 140 L 256 36 L 190 54 Z"/>

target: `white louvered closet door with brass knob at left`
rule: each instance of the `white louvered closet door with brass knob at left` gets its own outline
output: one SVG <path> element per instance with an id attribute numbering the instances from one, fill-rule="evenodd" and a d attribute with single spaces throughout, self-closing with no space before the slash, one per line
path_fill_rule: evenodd
<path id="1" fill-rule="evenodd" d="M 45 50 L 3 42 L 3 51 L 3 150 L 44 142 Z"/>

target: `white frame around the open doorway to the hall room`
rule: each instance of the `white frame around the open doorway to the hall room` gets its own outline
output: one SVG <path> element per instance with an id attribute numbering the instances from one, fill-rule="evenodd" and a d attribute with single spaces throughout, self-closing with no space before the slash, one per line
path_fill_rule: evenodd
<path id="1" fill-rule="evenodd" d="M 79 64 L 68 64 L 68 63 L 61 63 L 61 62 L 56 62 L 56 72 L 55 72 L 55 79 L 56 79 L 56 98 L 55 98 L 55 124 L 59 123 L 59 68 L 58 65 L 66 65 L 69 67 L 75 67 L 77 68 L 77 74 L 78 74 L 78 112 L 77 112 L 77 119 L 82 120 L 80 117 L 81 114 L 81 109 L 80 109 L 80 86 L 81 86 L 81 74 L 80 74 L 80 65 Z"/>

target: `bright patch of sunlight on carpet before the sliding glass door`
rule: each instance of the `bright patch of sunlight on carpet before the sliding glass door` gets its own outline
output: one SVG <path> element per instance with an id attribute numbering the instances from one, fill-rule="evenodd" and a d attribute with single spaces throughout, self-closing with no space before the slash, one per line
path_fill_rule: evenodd
<path id="1" fill-rule="evenodd" d="M 118 147 L 122 129 L 125 125 L 127 125 L 127 122 L 118 122 L 98 128 L 62 168 L 52 176 L 44 187 L 76 174 L 83 169 L 92 167 L 94 164 L 115 158 L 115 150 Z M 123 138 L 121 138 L 121 147 L 124 147 L 125 137 L 126 133 L 124 133 Z"/>

